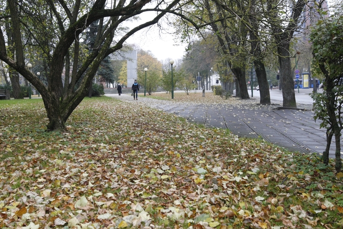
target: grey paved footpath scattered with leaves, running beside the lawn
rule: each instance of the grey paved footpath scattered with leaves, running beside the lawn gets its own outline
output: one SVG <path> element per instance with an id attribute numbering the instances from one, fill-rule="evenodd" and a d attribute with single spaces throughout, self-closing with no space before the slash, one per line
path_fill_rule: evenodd
<path id="1" fill-rule="evenodd" d="M 139 102 L 208 127 L 227 128 L 241 137 L 261 137 L 291 151 L 323 153 L 326 147 L 325 130 L 319 128 L 320 121 L 313 120 L 314 113 L 309 104 L 298 104 L 299 109 L 277 109 L 281 107 L 282 101 L 273 100 L 272 105 L 261 105 L 260 98 L 242 100 L 241 104 L 235 105 L 208 105 L 142 97 L 134 101 L 126 94 L 106 96 L 127 102 Z M 334 150 L 332 143 L 331 158 L 334 157 Z"/>

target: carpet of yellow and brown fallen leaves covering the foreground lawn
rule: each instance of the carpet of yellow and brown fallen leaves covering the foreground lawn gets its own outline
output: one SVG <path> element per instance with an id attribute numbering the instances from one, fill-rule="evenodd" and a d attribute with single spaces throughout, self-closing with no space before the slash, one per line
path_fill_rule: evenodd
<path id="1" fill-rule="evenodd" d="M 317 155 L 84 99 L 65 132 L 0 101 L 1 228 L 341 228 L 342 173 Z"/>

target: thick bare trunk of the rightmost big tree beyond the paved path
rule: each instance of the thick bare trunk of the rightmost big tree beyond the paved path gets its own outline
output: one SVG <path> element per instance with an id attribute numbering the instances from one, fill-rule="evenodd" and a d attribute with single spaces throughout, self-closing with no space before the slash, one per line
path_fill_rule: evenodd
<path id="1" fill-rule="evenodd" d="M 297 107 L 294 93 L 294 81 L 292 76 L 291 59 L 289 57 L 289 45 L 277 48 L 280 65 L 280 81 L 282 82 L 283 107 Z"/>

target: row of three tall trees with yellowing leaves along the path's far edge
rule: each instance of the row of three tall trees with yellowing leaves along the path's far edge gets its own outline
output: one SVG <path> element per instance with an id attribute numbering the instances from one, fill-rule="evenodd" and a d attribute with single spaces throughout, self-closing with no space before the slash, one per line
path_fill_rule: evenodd
<path id="1" fill-rule="evenodd" d="M 202 56 L 211 55 L 211 51 L 218 52 L 211 65 L 221 74 L 222 82 L 235 81 L 237 96 L 249 98 L 246 71 L 253 65 L 260 85 L 261 103 L 270 104 L 266 70 L 269 69 L 275 73 L 274 76 L 277 73 L 280 75 L 283 106 L 296 107 L 293 81 L 295 64 L 292 66 L 292 62 L 295 63 L 296 56 L 299 62 L 300 50 L 296 48 L 304 47 L 299 43 L 301 39 L 307 43 L 304 22 L 318 17 L 322 13 L 322 4 L 304 0 L 196 1 L 182 12 L 179 33 L 186 39 L 201 32 L 207 46 L 212 46 Z M 305 9 L 306 13 L 303 11 Z M 193 44 L 195 47 L 191 49 L 191 56 L 197 56 L 198 43 Z M 204 66 L 208 70 L 208 60 L 201 60 L 198 67 Z M 309 59 L 305 65 L 309 66 Z M 231 79 L 230 72 L 234 79 Z"/>

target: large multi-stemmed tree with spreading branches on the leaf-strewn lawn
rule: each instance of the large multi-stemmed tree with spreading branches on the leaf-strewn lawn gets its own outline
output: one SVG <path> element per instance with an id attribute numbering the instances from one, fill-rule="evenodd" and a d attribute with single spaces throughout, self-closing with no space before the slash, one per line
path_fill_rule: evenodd
<path id="1" fill-rule="evenodd" d="M 47 129 L 65 130 L 65 122 L 86 95 L 102 60 L 121 49 L 135 32 L 156 24 L 179 0 L 165 4 L 122 0 L 111 6 L 105 0 L 0 2 L 0 60 L 40 92 L 49 119 Z M 123 22 L 148 11 L 156 13 L 152 20 L 123 31 Z M 81 41 L 95 21 L 94 44 L 84 46 Z M 5 36 L 6 23 L 12 36 Z M 26 67 L 28 62 L 34 64 L 26 52 L 28 46 L 39 49 L 47 63 L 47 86 Z"/>

